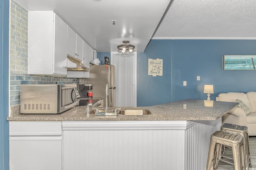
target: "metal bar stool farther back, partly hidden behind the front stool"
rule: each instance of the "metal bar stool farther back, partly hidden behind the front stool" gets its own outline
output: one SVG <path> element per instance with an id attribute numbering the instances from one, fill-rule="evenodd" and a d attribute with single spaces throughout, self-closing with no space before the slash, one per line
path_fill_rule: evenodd
<path id="1" fill-rule="evenodd" d="M 250 156 L 250 148 L 249 148 L 249 136 L 248 136 L 248 127 L 246 126 L 240 126 L 240 125 L 234 125 L 230 123 L 224 123 L 220 127 L 220 131 L 223 132 L 229 132 L 229 133 L 235 133 L 237 135 L 242 135 L 244 137 L 244 154 L 245 154 L 245 160 L 247 164 L 245 164 L 246 168 L 252 167 L 251 164 L 251 156 Z M 221 156 L 229 158 L 227 156 L 224 156 L 225 149 L 228 148 L 225 145 L 222 146 Z"/>

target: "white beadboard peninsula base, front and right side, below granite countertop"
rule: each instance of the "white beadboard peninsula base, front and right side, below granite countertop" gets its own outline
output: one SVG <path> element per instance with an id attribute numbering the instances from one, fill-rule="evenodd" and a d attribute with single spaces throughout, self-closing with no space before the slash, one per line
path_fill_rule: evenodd
<path id="1" fill-rule="evenodd" d="M 62 123 L 63 170 L 204 170 L 221 119 L 101 123 Z"/>

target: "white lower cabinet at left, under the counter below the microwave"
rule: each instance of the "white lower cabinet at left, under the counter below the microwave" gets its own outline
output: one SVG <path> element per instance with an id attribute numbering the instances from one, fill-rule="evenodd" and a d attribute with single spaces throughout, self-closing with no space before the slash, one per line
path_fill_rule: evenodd
<path id="1" fill-rule="evenodd" d="M 62 170 L 61 121 L 10 121 L 10 170 Z"/>

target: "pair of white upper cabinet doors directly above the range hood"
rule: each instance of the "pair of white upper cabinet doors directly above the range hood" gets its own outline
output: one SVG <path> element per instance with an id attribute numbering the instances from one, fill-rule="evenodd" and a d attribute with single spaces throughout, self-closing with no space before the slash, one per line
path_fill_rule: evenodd
<path id="1" fill-rule="evenodd" d="M 68 55 L 83 60 L 83 39 L 68 27 Z"/>

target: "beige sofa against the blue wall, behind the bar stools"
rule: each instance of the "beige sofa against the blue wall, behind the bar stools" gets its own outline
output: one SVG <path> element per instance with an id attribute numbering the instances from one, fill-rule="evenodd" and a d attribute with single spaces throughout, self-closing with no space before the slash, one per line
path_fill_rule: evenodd
<path id="1" fill-rule="evenodd" d="M 235 107 L 222 117 L 223 123 L 232 123 L 248 127 L 249 136 L 256 136 L 256 92 L 238 93 L 229 92 L 221 93 L 216 97 L 216 101 L 235 102 L 241 100 L 248 106 L 250 113 L 246 115 L 245 109 Z"/>

